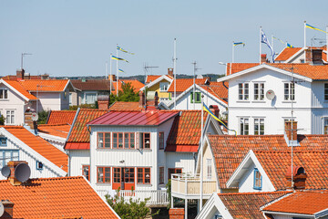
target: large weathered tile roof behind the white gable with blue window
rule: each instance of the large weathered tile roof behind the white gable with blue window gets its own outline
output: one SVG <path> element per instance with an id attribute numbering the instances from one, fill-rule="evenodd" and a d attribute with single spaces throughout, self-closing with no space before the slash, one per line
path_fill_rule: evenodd
<path id="1" fill-rule="evenodd" d="M 220 188 L 226 183 L 250 151 L 290 151 L 283 135 L 210 135 Z M 298 135 L 297 151 L 328 151 L 328 135 Z"/>

